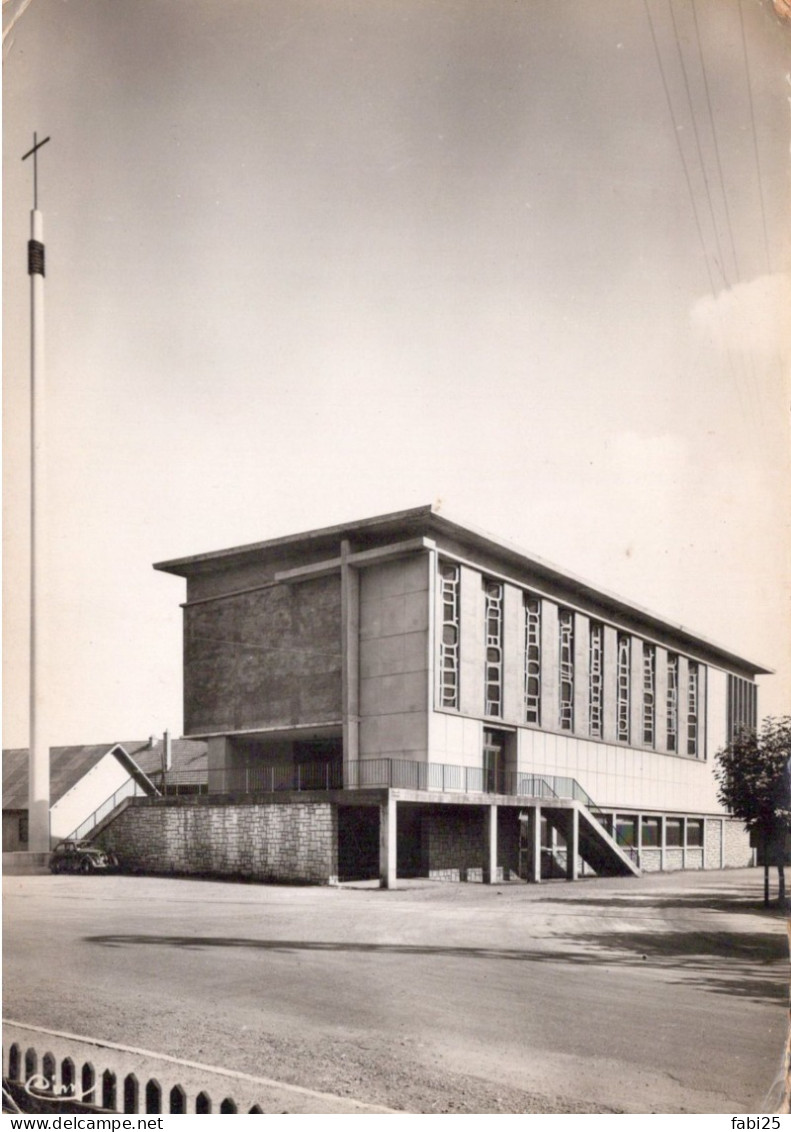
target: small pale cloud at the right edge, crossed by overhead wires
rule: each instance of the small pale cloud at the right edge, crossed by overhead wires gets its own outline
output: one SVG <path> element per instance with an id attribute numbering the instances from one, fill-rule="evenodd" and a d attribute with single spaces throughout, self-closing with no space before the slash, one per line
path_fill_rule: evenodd
<path id="1" fill-rule="evenodd" d="M 759 275 L 693 307 L 693 329 L 715 349 L 791 365 L 791 277 Z"/>

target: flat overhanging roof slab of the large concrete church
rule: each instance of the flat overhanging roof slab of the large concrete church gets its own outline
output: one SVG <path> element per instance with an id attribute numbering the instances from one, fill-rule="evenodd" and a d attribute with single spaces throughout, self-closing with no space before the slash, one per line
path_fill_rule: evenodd
<path id="1" fill-rule="evenodd" d="M 527 571 L 536 578 L 536 584 L 545 582 L 549 585 L 560 584 L 571 588 L 576 595 L 593 604 L 605 606 L 608 610 L 611 610 L 616 615 L 620 614 L 629 619 L 637 619 L 645 626 L 647 632 L 659 631 L 662 634 L 670 634 L 681 644 L 693 648 L 697 646 L 698 649 L 703 648 L 721 660 L 751 671 L 756 676 L 767 676 L 773 671 L 771 668 L 738 655 L 723 645 L 708 641 L 685 625 L 668 621 L 665 618 L 633 601 L 627 601 L 616 593 L 602 590 L 592 582 L 570 574 L 568 571 L 561 569 L 561 567 L 543 558 L 530 555 L 514 543 L 470 526 L 466 523 L 457 523 L 446 515 L 440 514 L 433 504 L 412 507 L 407 511 L 390 512 L 385 515 L 375 515 L 370 518 L 361 518 L 350 523 L 338 523 L 334 526 L 324 526 L 295 534 L 286 534 L 276 539 L 266 539 L 263 542 L 251 542 L 225 550 L 190 555 L 186 558 L 171 558 L 166 561 L 155 563 L 154 569 L 189 578 L 214 573 L 223 567 L 243 565 L 256 558 L 273 559 L 278 552 L 286 550 L 292 554 L 302 549 L 312 554 L 327 551 L 337 555 L 338 544 L 343 539 L 349 539 L 350 541 L 355 539 L 358 542 L 364 544 L 369 540 L 379 541 L 382 538 L 403 539 L 405 535 L 445 535 L 446 538 L 457 540 L 470 547 L 473 551 L 487 551 L 504 563 L 516 566 L 521 571 Z"/>

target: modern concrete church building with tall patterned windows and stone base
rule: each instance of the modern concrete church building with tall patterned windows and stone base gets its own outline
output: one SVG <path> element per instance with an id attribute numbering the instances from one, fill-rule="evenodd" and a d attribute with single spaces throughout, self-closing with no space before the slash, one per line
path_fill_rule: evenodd
<path id="1" fill-rule="evenodd" d="M 160 563 L 187 580 L 205 792 L 129 799 L 139 867 L 333 883 L 750 864 L 714 754 L 768 670 L 419 507 Z"/>

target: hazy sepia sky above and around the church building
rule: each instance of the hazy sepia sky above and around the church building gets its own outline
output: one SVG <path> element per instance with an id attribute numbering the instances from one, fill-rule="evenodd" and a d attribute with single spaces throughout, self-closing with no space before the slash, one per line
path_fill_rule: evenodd
<path id="1" fill-rule="evenodd" d="M 8 0 L 3 60 L 3 745 L 34 131 L 53 745 L 180 734 L 154 561 L 428 503 L 774 669 L 791 713 L 771 0 Z"/>

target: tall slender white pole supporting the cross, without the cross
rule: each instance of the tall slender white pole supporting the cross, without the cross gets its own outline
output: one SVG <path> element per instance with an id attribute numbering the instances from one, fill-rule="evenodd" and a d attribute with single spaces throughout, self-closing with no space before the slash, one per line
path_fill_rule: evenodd
<path id="1" fill-rule="evenodd" d="M 27 849 L 50 850 L 50 736 L 46 721 L 45 564 L 45 386 L 44 386 L 44 222 L 31 212 L 27 245 L 31 276 L 31 749 Z"/>

